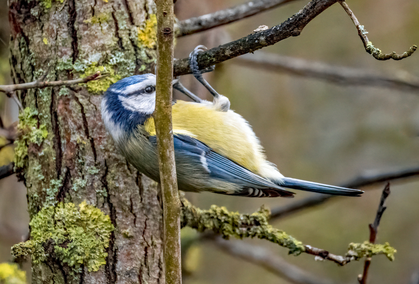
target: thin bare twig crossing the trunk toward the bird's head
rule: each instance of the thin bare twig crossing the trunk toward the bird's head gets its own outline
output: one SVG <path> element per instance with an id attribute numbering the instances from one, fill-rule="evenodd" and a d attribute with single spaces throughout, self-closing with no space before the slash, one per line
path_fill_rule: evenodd
<path id="1" fill-rule="evenodd" d="M 34 81 L 30 83 L 23 84 L 12 84 L 12 85 L 0 85 L 0 92 L 11 93 L 16 90 L 31 89 L 31 88 L 46 88 L 46 87 L 59 87 L 59 86 L 70 86 L 73 84 L 87 83 L 89 81 L 98 80 L 103 77 L 108 76 L 108 74 L 101 75 L 101 72 L 98 71 L 95 74 L 91 74 L 84 78 L 74 79 L 74 80 L 65 80 L 65 81 Z"/>

